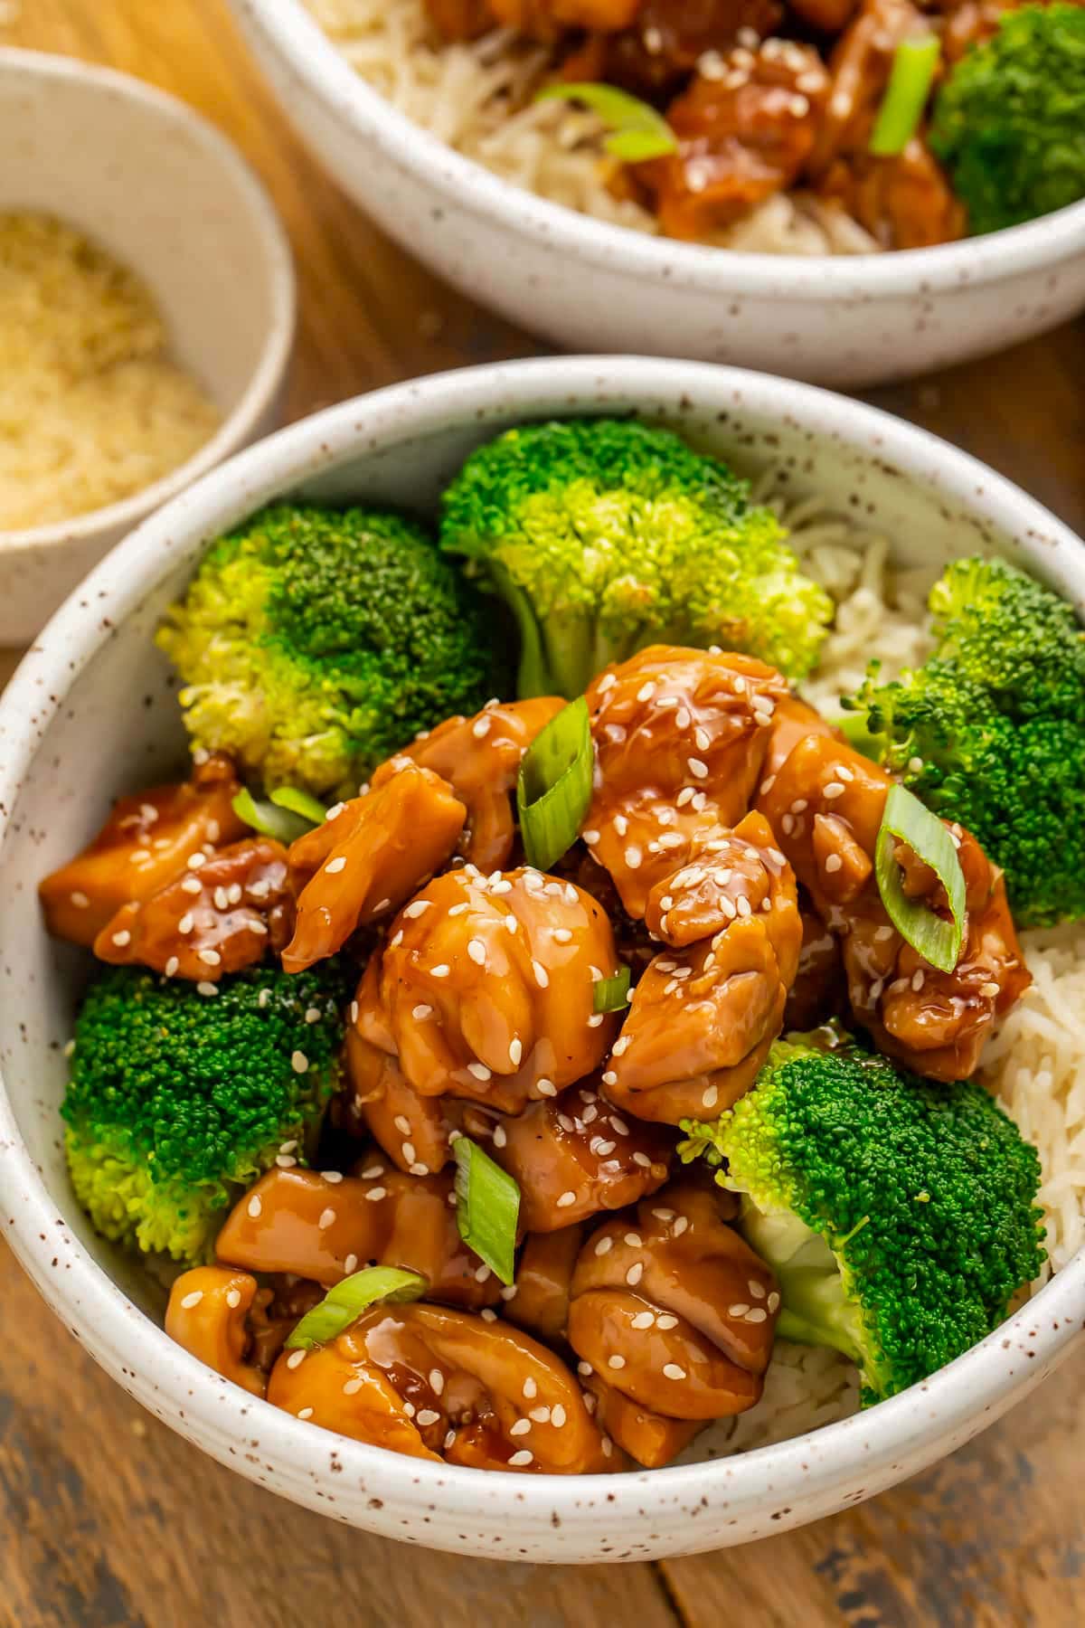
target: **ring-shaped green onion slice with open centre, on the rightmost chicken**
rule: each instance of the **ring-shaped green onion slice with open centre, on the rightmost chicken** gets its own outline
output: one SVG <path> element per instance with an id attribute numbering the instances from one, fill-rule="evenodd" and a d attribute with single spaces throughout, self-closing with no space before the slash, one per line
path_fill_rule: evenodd
<path id="1" fill-rule="evenodd" d="M 930 866 L 945 887 L 952 921 L 943 921 L 929 905 L 906 895 L 901 869 L 893 856 L 895 842 L 906 842 L 916 858 Z M 885 799 L 875 874 L 882 904 L 896 931 L 939 972 L 952 972 L 965 936 L 965 873 L 947 827 L 904 786 L 890 786 Z"/>

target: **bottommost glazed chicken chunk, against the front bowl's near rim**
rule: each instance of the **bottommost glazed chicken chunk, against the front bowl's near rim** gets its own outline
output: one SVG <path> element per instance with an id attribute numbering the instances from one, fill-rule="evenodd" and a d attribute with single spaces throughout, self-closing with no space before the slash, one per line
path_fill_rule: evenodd
<path id="1" fill-rule="evenodd" d="M 379 1306 L 330 1345 L 280 1356 L 268 1402 L 343 1436 L 480 1470 L 617 1468 L 566 1364 L 501 1322 Z"/>

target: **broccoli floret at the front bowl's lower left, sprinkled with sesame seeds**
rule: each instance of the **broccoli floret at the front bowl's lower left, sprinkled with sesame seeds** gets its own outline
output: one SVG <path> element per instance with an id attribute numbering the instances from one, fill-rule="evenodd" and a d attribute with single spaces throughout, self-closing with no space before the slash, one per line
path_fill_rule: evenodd
<path id="1" fill-rule="evenodd" d="M 216 990 L 111 967 L 80 1009 L 60 1109 L 72 1185 L 94 1228 L 190 1265 L 241 1184 L 316 1127 L 343 1039 L 333 961 L 293 977 L 252 967 Z"/>

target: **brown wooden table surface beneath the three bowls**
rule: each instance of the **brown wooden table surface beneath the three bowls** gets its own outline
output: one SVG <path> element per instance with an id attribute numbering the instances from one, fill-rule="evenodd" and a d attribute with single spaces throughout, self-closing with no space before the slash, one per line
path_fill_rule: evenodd
<path id="1" fill-rule="evenodd" d="M 208 114 L 293 236 L 288 415 L 540 347 L 389 244 L 306 158 L 221 0 L 5 0 L 0 44 L 107 62 Z M 1085 531 L 1085 322 L 874 392 Z M 11 661 L 0 653 L 0 682 Z M 0 1628 L 1062 1628 L 1085 1618 L 1085 1351 L 927 1475 L 831 1521 L 660 1565 L 545 1568 L 400 1548 L 220 1468 L 145 1416 L 0 1247 Z"/>

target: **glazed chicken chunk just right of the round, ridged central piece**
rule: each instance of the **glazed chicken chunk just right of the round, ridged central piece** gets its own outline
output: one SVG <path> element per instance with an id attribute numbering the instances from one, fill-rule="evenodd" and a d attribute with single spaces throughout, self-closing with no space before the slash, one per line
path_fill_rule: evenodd
<path id="1" fill-rule="evenodd" d="M 747 814 L 730 835 L 695 845 L 691 863 L 652 891 L 651 920 L 683 947 L 657 956 L 638 983 L 602 1084 L 623 1110 L 677 1125 L 743 1096 L 784 1024 L 802 921 L 766 821 Z"/>

